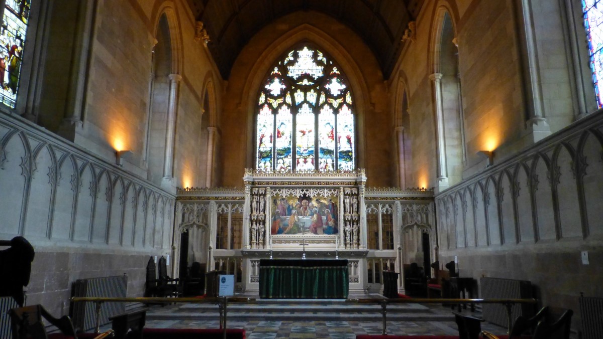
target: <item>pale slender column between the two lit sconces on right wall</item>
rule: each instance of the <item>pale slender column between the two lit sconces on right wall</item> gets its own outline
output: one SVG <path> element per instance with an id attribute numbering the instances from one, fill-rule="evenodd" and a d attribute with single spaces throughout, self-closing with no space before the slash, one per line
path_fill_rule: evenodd
<path id="1" fill-rule="evenodd" d="M 442 74 L 433 73 L 429 79 L 434 82 L 435 93 L 435 138 L 437 140 L 438 177 L 437 188 L 442 191 L 448 187 L 448 172 L 446 167 L 446 135 L 444 134 L 444 106 L 442 102 Z"/>

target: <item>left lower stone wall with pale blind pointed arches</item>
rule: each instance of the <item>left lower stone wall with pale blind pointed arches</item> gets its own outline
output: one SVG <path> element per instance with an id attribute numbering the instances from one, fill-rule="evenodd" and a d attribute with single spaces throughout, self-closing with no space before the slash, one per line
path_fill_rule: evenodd
<path id="1" fill-rule="evenodd" d="M 36 250 L 27 304 L 68 312 L 75 279 L 128 275 L 144 291 L 150 255 L 171 255 L 175 197 L 86 149 L 0 115 L 0 238 Z"/>

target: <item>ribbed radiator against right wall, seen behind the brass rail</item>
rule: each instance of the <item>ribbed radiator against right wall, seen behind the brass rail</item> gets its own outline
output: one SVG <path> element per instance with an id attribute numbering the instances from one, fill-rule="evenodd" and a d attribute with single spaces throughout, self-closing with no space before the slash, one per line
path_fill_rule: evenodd
<path id="1" fill-rule="evenodd" d="M 483 299 L 524 299 L 532 297 L 532 284 L 529 281 L 481 278 L 481 296 Z M 534 306 L 530 304 L 516 304 L 511 307 L 511 323 L 519 316 L 531 317 Z M 507 327 L 507 308 L 497 303 L 484 303 L 482 317 L 485 321 Z"/>

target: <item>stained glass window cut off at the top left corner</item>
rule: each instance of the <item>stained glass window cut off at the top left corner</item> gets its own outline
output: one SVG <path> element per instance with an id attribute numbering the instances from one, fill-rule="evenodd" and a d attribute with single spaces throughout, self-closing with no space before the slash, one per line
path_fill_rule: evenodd
<path id="1" fill-rule="evenodd" d="M 14 108 L 21 76 L 21 58 L 31 0 L 5 0 L 0 27 L 0 99 Z"/>

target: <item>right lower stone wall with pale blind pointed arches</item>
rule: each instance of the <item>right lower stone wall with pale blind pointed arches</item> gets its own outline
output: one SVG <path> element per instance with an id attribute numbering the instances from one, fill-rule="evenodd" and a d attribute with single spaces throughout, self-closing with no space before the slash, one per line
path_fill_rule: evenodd
<path id="1" fill-rule="evenodd" d="M 541 305 L 601 296 L 603 111 L 436 197 L 440 263 L 461 276 L 529 280 Z M 588 251 L 590 264 L 581 262 Z"/>

